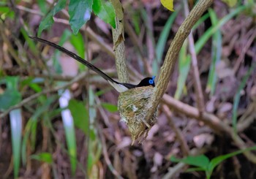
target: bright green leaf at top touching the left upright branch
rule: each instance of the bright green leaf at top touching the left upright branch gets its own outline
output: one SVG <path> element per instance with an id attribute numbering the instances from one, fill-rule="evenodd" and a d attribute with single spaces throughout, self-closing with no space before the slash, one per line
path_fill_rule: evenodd
<path id="1" fill-rule="evenodd" d="M 109 23 L 113 28 L 116 28 L 115 9 L 109 1 L 94 0 L 92 9 L 94 14 L 101 18 L 105 23 Z"/>

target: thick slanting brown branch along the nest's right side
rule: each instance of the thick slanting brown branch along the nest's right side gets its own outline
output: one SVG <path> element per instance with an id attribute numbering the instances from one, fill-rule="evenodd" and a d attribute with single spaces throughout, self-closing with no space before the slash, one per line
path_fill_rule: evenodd
<path id="1" fill-rule="evenodd" d="M 148 113 L 146 114 L 146 119 L 151 118 L 154 110 L 157 108 L 160 102 L 160 99 L 165 94 L 167 85 L 170 81 L 170 75 L 173 73 L 178 58 L 178 53 L 181 50 L 184 40 L 188 37 L 192 26 L 195 25 L 197 20 L 201 17 L 201 15 L 203 15 L 203 12 L 205 12 L 212 3 L 213 0 L 198 1 L 187 18 L 184 20 L 184 23 L 181 24 L 180 28 L 178 28 L 177 34 L 174 37 L 173 42 L 170 44 L 167 55 L 165 56 L 165 61 L 161 67 L 159 80 L 154 88 L 154 93 L 147 105 Z"/>

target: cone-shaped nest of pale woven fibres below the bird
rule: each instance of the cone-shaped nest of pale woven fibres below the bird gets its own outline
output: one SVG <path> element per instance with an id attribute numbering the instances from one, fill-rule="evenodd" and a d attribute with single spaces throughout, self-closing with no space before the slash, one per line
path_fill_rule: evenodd
<path id="1" fill-rule="evenodd" d="M 133 142 L 142 134 L 146 137 L 148 130 L 156 123 L 157 109 L 151 119 L 147 121 L 145 119 L 149 110 L 147 104 L 153 94 L 153 89 L 152 86 L 132 88 L 118 96 L 118 111 L 121 120 L 127 123 Z"/>

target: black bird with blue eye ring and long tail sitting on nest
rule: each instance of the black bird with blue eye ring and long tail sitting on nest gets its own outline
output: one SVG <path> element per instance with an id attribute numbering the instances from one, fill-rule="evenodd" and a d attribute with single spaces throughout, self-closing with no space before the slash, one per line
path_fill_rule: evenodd
<path id="1" fill-rule="evenodd" d="M 156 76 L 146 77 L 143 80 L 141 80 L 140 83 L 138 83 L 138 85 L 133 85 L 133 84 L 130 84 L 130 83 L 119 83 L 118 81 L 113 80 L 112 77 L 105 74 L 105 72 L 102 72 L 102 70 L 98 69 L 93 64 L 89 63 L 88 61 L 86 61 L 85 59 L 76 55 L 75 53 L 70 52 L 69 50 L 65 49 L 64 47 L 61 47 L 59 45 L 56 45 L 53 42 L 50 42 L 46 39 L 41 39 L 39 37 L 30 37 L 30 38 L 34 39 L 37 42 L 42 42 L 45 45 L 50 45 L 50 47 L 56 48 L 57 50 L 67 54 L 67 56 L 70 56 L 71 58 L 75 59 L 76 61 L 79 61 L 81 64 L 84 64 L 89 69 L 93 70 L 94 72 L 97 72 L 98 75 L 100 75 L 105 80 L 107 80 L 108 83 L 110 83 L 110 85 L 112 85 L 113 88 L 115 88 L 116 91 L 118 91 L 119 93 L 122 93 L 122 92 L 127 91 L 127 90 L 132 89 L 132 88 L 138 88 L 138 87 L 150 86 L 150 85 L 153 86 L 153 87 L 155 86 L 154 79 L 155 79 Z"/>

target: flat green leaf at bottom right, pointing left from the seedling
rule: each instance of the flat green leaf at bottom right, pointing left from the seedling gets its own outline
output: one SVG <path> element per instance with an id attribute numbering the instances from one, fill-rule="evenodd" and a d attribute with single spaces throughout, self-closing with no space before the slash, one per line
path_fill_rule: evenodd
<path id="1" fill-rule="evenodd" d="M 205 156 L 205 155 L 187 156 L 184 159 L 176 159 L 174 156 L 172 156 L 170 158 L 170 161 L 182 162 L 182 163 L 185 163 L 185 164 L 200 167 L 203 170 L 207 170 L 208 164 L 210 163 L 208 157 Z"/>

